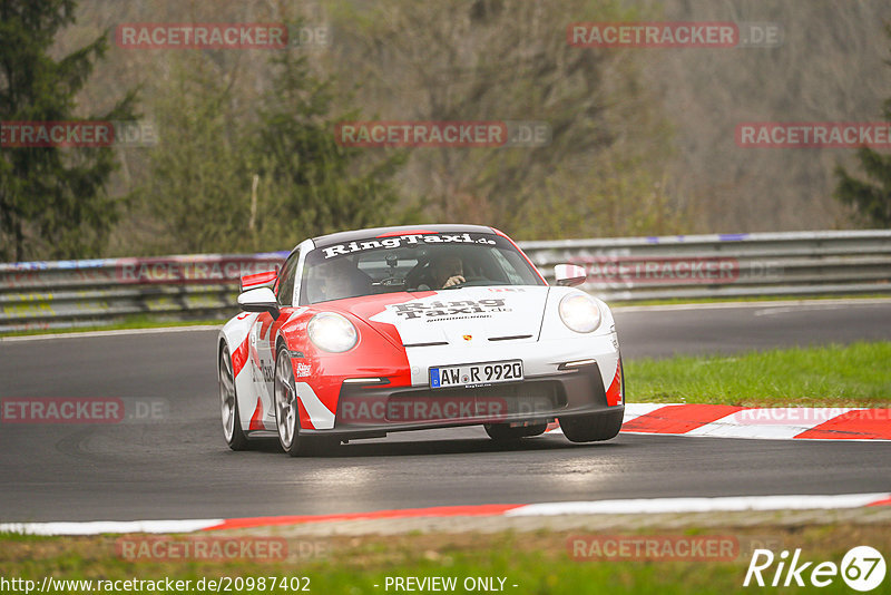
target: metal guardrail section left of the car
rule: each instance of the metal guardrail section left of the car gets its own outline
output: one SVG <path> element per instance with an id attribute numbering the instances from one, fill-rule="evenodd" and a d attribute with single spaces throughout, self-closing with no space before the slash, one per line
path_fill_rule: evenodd
<path id="1" fill-rule="evenodd" d="M 222 318 L 242 275 L 287 252 L 0 264 L 0 333 L 112 324 L 126 316 Z"/>

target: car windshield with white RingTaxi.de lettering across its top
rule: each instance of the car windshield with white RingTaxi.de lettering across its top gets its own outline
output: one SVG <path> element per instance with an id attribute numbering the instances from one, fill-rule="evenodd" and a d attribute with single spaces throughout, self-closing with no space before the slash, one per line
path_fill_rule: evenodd
<path id="1" fill-rule="evenodd" d="M 319 247 L 306 255 L 301 303 L 473 285 L 544 285 L 506 237 L 405 234 Z"/>

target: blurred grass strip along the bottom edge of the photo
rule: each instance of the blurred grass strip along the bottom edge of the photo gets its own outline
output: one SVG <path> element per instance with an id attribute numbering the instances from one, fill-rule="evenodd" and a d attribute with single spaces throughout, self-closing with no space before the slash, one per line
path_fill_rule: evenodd
<path id="1" fill-rule="evenodd" d="M 891 548 L 891 526 L 811 525 L 781 527 L 679 529 L 654 534 L 611 530 L 609 535 L 677 537 L 711 535 L 733 537 L 740 544 L 770 536 L 780 547 L 802 548 L 802 558 L 839 563 L 853 546 L 869 544 L 880 552 Z M 130 562 L 117 556 L 114 536 L 53 537 L 22 539 L 0 535 L 0 576 L 38 582 L 43 576 L 57 579 L 128 579 L 158 581 L 164 577 L 189 579 L 202 577 L 309 577 L 312 593 L 383 594 L 388 576 L 502 577 L 505 592 L 513 594 L 686 594 L 730 595 L 762 591 L 742 586 L 751 559 L 751 549 L 733 560 L 603 560 L 575 559 L 569 539 L 590 537 L 593 531 L 535 533 L 502 531 L 497 534 L 395 535 L 388 537 L 311 538 L 326 546 L 322 557 L 288 558 L 284 563 L 239 560 L 207 562 Z M 217 536 L 215 536 L 217 537 Z M 309 538 L 303 538 L 304 540 Z M 296 550 L 293 538 L 288 548 Z M 776 552 L 779 554 L 779 552 Z M 773 568 L 772 568 L 773 569 Z M 770 577 L 771 574 L 765 576 Z M 891 578 L 887 578 L 891 581 Z M 374 585 L 379 585 L 375 587 Z M 517 585 L 513 587 L 512 585 Z M 887 584 L 885 584 L 887 585 Z M 850 593 L 841 578 L 821 593 Z M 249 591 L 249 589 L 244 589 Z M 768 589 L 774 592 L 774 589 Z M 784 593 L 810 589 L 783 588 Z M 57 591 L 67 593 L 67 591 Z M 258 592 L 258 589 L 254 589 Z M 464 593 L 457 588 L 454 593 Z M 881 588 L 878 592 L 882 592 Z M 286 593 L 268 587 L 264 593 Z M 887 593 L 887 592 L 885 592 Z"/>

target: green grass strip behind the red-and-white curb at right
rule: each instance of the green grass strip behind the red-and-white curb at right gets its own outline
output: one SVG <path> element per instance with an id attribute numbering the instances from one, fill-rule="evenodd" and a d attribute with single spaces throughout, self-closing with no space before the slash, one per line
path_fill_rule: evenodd
<path id="1" fill-rule="evenodd" d="M 888 407 L 891 342 L 625 361 L 630 402 Z"/>

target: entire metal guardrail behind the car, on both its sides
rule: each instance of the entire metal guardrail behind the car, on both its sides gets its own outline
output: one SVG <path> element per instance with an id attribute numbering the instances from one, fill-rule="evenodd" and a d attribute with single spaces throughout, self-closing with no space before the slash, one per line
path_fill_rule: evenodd
<path id="1" fill-rule="evenodd" d="M 520 242 L 549 281 L 584 266 L 608 302 L 891 294 L 891 231 Z M 0 264 L 0 333 L 114 323 L 133 314 L 222 318 L 238 280 L 286 252 Z"/>

